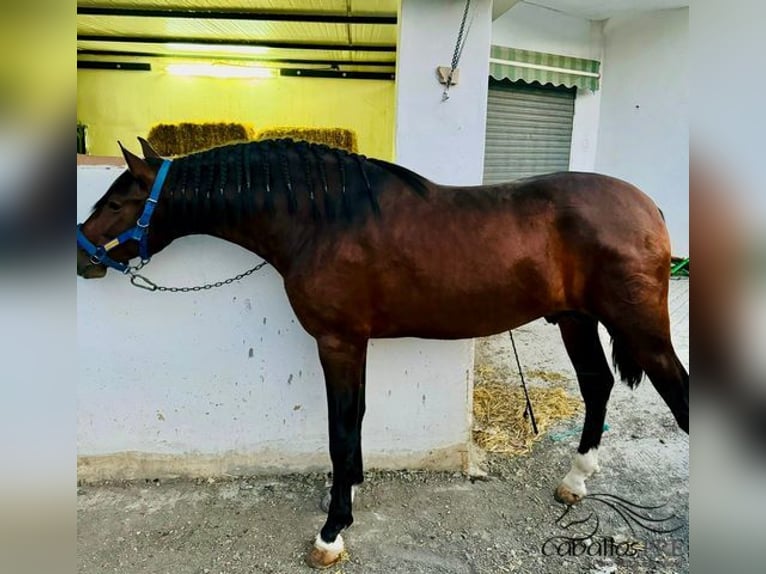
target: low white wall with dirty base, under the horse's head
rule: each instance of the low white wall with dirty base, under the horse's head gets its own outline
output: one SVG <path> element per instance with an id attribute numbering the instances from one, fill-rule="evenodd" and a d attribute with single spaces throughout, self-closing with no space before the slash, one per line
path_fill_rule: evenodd
<path id="1" fill-rule="evenodd" d="M 78 167 L 80 221 L 120 172 Z M 153 280 L 220 280 L 259 258 L 187 237 L 146 268 Z M 77 280 L 78 453 L 84 479 L 329 469 L 314 340 L 267 267 L 200 294 L 155 294 L 110 271 Z M 470 426 L 472 347 L 371 343 L 363 449 L 377 467 L 459 468 Z"/>

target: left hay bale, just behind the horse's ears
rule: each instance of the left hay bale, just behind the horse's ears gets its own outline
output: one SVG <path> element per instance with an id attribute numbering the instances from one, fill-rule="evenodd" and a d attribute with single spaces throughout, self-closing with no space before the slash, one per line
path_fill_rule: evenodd
<path id="1" fill-rule="evenodd" d="M 196 151 L 252 139 L 252 128 L 234 122 L 157 124 L 147 140 L 161 155 L 186 155 Z"/>

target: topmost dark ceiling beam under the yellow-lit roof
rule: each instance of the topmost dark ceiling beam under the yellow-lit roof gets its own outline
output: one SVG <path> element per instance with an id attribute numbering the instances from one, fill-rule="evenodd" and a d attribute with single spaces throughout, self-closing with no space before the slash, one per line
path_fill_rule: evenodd
<path id="1" fill-rule="evenodd" d="M 322 24 L 396 24 L 396 16 L 321 14 L 303 12 L 261 12 L 256 10 L 202 10 L 182 8 L 107 8 L 78 6 L 83 16 L 131 16 L 138 18 L 202 18 L 206 20 L 252 20 L 268 22 L 315 22 Z"/>

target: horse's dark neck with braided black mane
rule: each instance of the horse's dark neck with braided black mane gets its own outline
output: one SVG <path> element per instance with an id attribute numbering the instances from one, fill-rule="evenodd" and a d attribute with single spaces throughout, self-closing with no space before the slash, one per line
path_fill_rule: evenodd
<path id="1" fill-rule="evenodd" d="M 176 161 L 162 196 L 169 239 L 213 235 L 280 272 L 323 229 L 351 220 L 359 225 L 379 212 L 371 167 L 327 147 L 259 142 Z"/>

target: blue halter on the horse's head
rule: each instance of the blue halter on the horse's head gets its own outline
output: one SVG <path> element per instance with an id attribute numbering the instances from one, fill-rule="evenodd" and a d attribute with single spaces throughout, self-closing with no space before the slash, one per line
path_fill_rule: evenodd
<path id="1" fill-rule="evenodd" d="M 157 176 L 154 178 L 152 191 L 149 193 L 149 197 L 146 198 L 144 211 L 141 213 L 138 221 L 136 221 L 136 224 L 127 231 L 123 231 L 104 245 L 95 245 L 82 232 L 82 223 L 77 224 L 77 246 L 90 255 L 91 262 L 95 264 L 100 263 L 112 269 L 117 269 L 122 273 L 127 273 L 130 270 L 130 265 L 112 259 L 109 257 L 109 251 L 126 241 L 137 241 L 138 255 L 141 258 L 141 262 L 148 263 L 149 259 L 151 259 L 149 255 L 149 223 L 152 220 L 154 208 L 157 207 L 157 200 L 160 197 L 160 192 L 162 192 L 162 186 L 165 184 L 165 178 L 168 175 L 171 163 L 172 160 L 169 159 L 162 161 L 162 165 L 159 171 L 157 171 Z"/>

